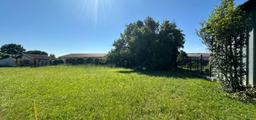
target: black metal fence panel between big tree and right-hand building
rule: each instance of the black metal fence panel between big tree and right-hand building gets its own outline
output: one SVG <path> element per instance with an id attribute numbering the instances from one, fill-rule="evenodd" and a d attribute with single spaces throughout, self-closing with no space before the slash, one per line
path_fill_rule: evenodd
<path id="1" fill-rule="evenodd" d="M 201 57 L 187 57 L 187 71 L 202 76 L 212 77 L 212 65 L 209 59 Z"/>

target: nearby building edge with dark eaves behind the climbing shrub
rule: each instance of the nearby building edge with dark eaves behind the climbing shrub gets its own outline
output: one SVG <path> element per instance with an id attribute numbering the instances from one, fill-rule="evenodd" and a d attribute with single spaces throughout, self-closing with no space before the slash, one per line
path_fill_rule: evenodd
<path id="1" fill-rule="evenodd" d="M 243 53 L 246 58 L 243 62 L 246 63 L 246 84 L 256 84 L 256 0 L 248 0 L 242 5 L 249 20 L 249 27 L 247 28 L 249 34 L 249 41 Z"/>

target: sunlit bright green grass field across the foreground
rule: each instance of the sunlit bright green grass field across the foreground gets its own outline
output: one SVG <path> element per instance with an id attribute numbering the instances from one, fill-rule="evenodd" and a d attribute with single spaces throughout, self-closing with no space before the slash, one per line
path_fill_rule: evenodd
<path id="1" fill-rule="evenodd" d="M 254 119 L 256 105 L 182 69 L 0 68 L 0 120 Z"/>

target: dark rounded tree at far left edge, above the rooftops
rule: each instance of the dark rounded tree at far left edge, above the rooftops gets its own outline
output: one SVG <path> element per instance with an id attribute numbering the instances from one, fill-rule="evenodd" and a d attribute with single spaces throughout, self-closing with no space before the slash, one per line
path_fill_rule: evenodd
<path id="1" fill-rule="evenodd" d="M 20 44 L 4 44 L 1 46 L 0 51 L 3 53 L 17 55 L 26 51 Z"/>

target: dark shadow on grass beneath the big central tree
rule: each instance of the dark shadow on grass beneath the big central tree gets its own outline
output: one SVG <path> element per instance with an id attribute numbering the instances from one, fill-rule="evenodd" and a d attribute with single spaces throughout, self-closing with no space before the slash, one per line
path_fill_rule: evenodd
<path id="1" fill-rule="evenodd" d="M 120 70 L 117 71 L 118 73 L 123 74 L 131 74 L 136 73 L 138 75 L 147 75 L 147 76 L 155 76 L 155 77 L 172 77 L 172 78 L 182 78 L 182 79 L 189 79 L 189 78 L 201 78 L 200 76 L 196 76 L 193 74 L 189 74 L 185 69 L 177 69 L 177 70 L 169 70 L 169 71 L 149 71 L 149 70 Z"/>

